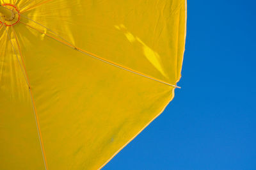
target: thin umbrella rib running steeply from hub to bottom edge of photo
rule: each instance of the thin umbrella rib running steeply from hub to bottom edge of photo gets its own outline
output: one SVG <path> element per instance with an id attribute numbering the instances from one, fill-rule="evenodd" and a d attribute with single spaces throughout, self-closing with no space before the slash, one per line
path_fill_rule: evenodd
<path id="1" fill-rule="evenodd" d="M 15 30 L 13 29 L 13 26 L 12 26 L 12 30 L 13 30 L 13 34 L 14 34 L 14 37 L 15 37 L 15 40 L 16 40 L 18 49 L 19 49 L 19 54 L 20 54 L 20 58 L 21 58 L 21 60 L 22 60 L 22 65 L 23 65 L 23 68 L 24 68 L 24 71 L 25 71 L 25 75 L 26 75 L 26 78 L 27 78 L 27 80 L 28 80 L 29 94 L 30 94 L 30 98 L 31 98 L 31 104 L 32 104 L 32 106 L 33 106 L 33 113 L 34 113 L 34 117 L 35 117 L 35 121 L 36 121 L 37 134 L 38 134 L 38 138 L 39 138 L 39 142 L 40 142 L 40 147 L 41 147 L 41 151 L 42 151 L 42 156 L 43 156 L 43 158 L 44 158 L 44 166 L 45 166 L 45 169 L 47 170 L 48 167 L 47 167 L 47 161 L 46 161 L 46 157 L 45 157 L 44 143 L 43 143 L 43 141 L 42 141 L 41 128 L 40 128 L 40 123 L 39 123 L 38 114 L 37 114 L 37 112 L 36 112 L 35 100 L 34 100 L 34 97 L 33 97 L 33 93 L 32 93 L 32 91 L 31 91 L 31 86 L 30 86 L 29 79 L 28 79 L 28 73 L 27 73 L 27 71 L 26 71 L 26 66 L 25 66 L 25 64 L 24 64 L 24 59 L 23 59 L 23 57 L 22 57 L 22 53 L 21 53 L 21 50 L 20 50 L 20 44 L 19 44 L 19 41 L 18 41 L 18 39 L 17 39 Z M 10 41 L 11 41 L 11 40 L 10 40 Z M 14 50 L 14 49 L 13 49 L 13 50 Z"/>

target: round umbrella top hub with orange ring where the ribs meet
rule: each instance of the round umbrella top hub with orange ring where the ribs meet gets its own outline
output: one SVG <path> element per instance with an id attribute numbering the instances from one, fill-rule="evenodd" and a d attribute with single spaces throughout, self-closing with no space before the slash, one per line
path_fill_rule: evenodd
<path id="1" fill-rule="evenodd" d="M 0 4 L 0 24 L 14 26 L 20 21 L 18 8 L 13 4 Z"/>

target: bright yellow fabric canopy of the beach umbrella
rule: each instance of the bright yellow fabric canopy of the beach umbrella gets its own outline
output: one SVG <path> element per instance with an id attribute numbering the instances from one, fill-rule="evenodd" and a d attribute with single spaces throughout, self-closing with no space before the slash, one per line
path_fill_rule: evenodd
<path id="1" fill-rule="evenodd" d="M 0 2 L 0 169 L 100 169 L 174 97 L 186 1 Z"/>

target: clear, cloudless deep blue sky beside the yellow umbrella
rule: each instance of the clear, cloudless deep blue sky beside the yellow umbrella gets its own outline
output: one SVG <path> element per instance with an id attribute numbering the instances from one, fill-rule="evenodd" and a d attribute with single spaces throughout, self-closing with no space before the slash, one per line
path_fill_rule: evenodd
<path id="1" fill-rule="evenodd" d="M 256 169 L 255 6 L 188 0 L 182 89 L 104 169 Z"/>

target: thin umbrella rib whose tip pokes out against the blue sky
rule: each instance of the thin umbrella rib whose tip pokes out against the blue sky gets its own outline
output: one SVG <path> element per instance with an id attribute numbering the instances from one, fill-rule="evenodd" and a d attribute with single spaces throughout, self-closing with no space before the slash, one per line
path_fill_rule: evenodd
<path id="1" fill-rule="evenodd" d="M 90 56 L 90 57 L 92 57 L 92 58 L 94 58 L 94 59 L 98 59 L 99 61 L 102 61 L 102 62 L 104 62 L 104 63 L 108 63 L 109 65 L 112 65 L 112 66 L 116 66 L 117 68 L 121 68 L 122 70 L 126 70 L 127 72 L 131 72 L 131 73 L 134 73 L 134 74 L 136 74 L 136 75 L 140 75 L 140 76 L 142 76 L 142 77 L 145 77 L 145 78 L 148 78 L 148 79 L 152 79 L 152 80 L 157 81 L 157 82 L 161 82 L 161 83 L 166 84 L 166 85 L 168 85 L 168 86 L 172 86 L 172 87 L 174 87 L 174 88 L 180 88 L 179 86 L 175 86 L 175 85 L 170 84 L 170 83 L 168 83 L 168 82 L 164 82 L 164 81 L 161 81 L 161 80 L 156 79 L 156 78 L 154 78 L 154 77 L 150 77 L 149 75 L 145 75 L 144 73 L 137 72 L 137 71 L 135 71 L 135 70 L 132 70 L 131 68 L 127 68 L 127 67 L 125 67 L 125 66 L 119 65 L 118 63 L 114 63 L 114 62 L 112 62 L 112 61 L 108 61 L 107 59 L 100 58 L 99 56 L 96 56 L 95 54 L 92 54 L 91 52 L 88 52 L 88 51 L 86 51 L 86 50 L 83 50 L 83 49 L 80 49 L 80 48 L 78 48 L 78 47 L 75 47 L 75 46 L 72 45 L 71 43 L 67 43 L 67 41 L 66 41 L 66 42 L 63 42 L 62 40 L 60 40 L 60 39 L 58 39 L 58 38 L 56 38 L 56 37 L 54 37 L 54 36 L 48 35 L 47 33 L 44 33 L 44 32 L 42 32 L 42 31 L 36 29 L 35 27 L 29 26 L 28 24 L 26 24 L 26 23 L 24 23 L 24 22 L 21 22 L 21 21 L 20 21 L 20 23 L 22 23 L 22 24 L 24 24 L 24 25 L 26 25 L 26 26 L 28 26 L 28 27 L 31 27 L 32 29 L 35 29 L 36 31 L 38 31 L 38 32 L 40 32 L 40 33 L 42 33 L 42 34 L 44 34 L 44 35 L 46 35 L 46 36 L 49 36 L 50 38 L 53 38 L 54 40 L 56 40 L 56 41 L 58 41 L 58 42 L 60 42 L 60 43 L 63 43 L 64 45 L 67 45 L 68 47 L 71 47 L 72 49 L 75 49 L 75 50 L 77 50 L 78 52 L 81 52 L 81 53 L 83 53 L 83 54 L 86 54 L 87 56 Z"/>

